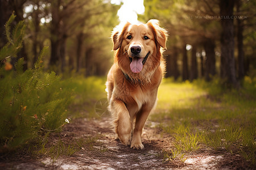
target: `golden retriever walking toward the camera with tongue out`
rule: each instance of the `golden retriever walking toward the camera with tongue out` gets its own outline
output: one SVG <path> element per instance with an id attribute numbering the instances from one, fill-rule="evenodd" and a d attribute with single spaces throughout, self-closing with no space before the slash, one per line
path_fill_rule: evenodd
<path id="1" fill-rule="evenodd" d="M 167 31 L 159 21 L 115 27 L 114 65 L 108 73 L 106 90 L 113 128 L 124 145 L 143 149 L 141 135 L 148 114 L 156 104 L 163 77 L 162 48 L 166 49 Z"/>

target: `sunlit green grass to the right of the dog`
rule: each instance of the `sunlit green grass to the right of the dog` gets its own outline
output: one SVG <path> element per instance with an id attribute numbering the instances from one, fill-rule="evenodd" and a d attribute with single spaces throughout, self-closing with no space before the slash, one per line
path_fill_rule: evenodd
<path id="1" fill-rule="evenodd" d="M 225 90 L 211 83 L 174 83 L 166 79 L 159 87 L 158 106 L 152 121 L 174 137 L 166 157 L 181 162 L 193 152 L 225 150 L 255 165 L 255 79 L 245 78 L 240 90 Z"/>

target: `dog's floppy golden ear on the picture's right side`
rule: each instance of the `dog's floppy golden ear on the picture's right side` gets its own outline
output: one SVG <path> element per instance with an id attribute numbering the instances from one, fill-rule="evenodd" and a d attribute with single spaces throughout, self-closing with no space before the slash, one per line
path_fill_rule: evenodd
<path id="1" fill-rule="evenodd" d="M 158 44 L 162 46 L 164 49 L 167 49 L 166 41 L 167 41 L 168 33 L 166 29 L 161 28 L 159 26 L 159 20 L 151 19 L 147 22 L 147 25 L 152 29 L 156 42 L 158 42 Z"/>

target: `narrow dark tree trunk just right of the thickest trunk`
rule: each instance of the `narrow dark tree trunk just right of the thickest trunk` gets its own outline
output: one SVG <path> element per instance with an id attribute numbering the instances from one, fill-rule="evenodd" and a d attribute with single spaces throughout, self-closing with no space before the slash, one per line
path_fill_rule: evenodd
<path id="1" fill-rule="evenodd" d="M 241 1 L 236 1 L 237 14 L 240 14 Z M 240 18 L 237 18 L 237 49 L 238 49 L 238 79 L 245 76 L 244 53 L 243 53 L 243 24 Z"/>

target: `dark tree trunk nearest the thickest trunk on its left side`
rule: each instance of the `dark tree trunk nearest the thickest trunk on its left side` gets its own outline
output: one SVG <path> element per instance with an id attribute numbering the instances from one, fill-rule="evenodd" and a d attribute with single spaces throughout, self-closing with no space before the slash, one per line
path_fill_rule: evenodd
<path id="1" fill-rule="evenodd" d="M 206 54 L 205 79 L 208 82 L 212 79 L 212 76 L 216 74 L 214 48 L 215 48 L 214 40 L 206 39 L 204 42 L 204 50 Z"/>

